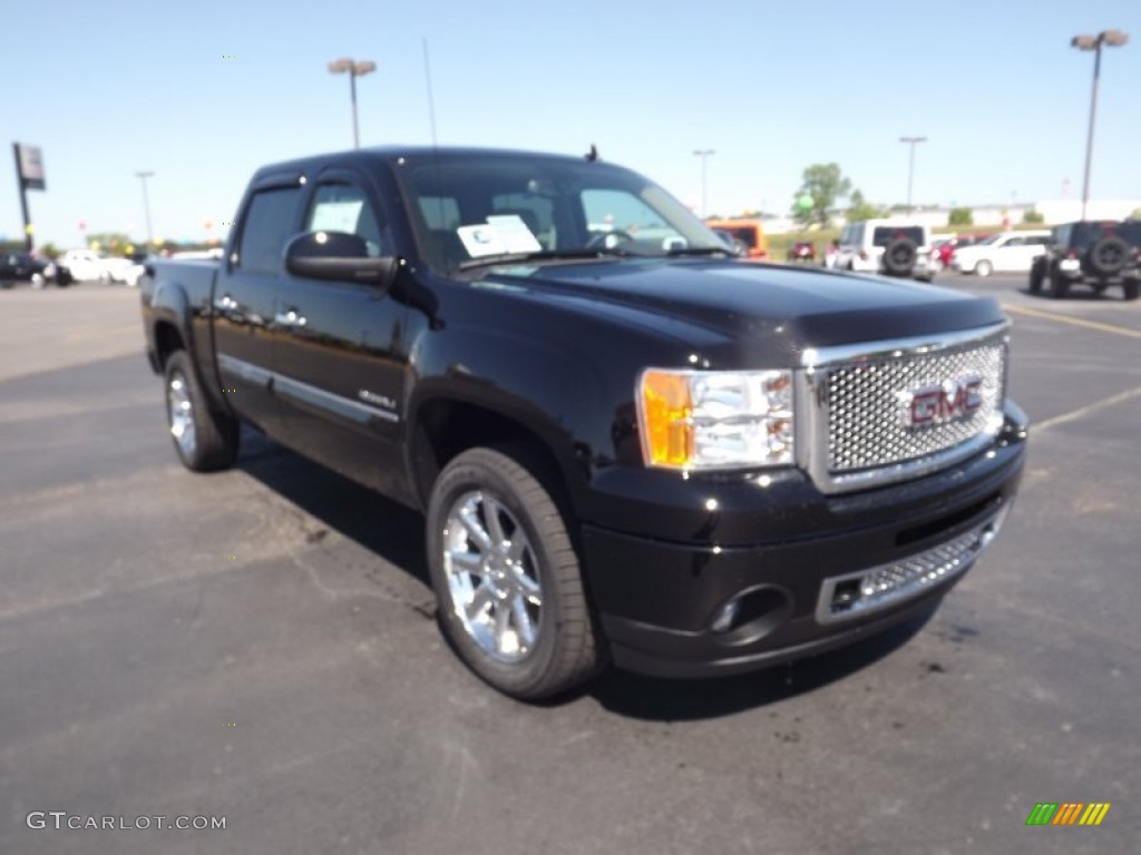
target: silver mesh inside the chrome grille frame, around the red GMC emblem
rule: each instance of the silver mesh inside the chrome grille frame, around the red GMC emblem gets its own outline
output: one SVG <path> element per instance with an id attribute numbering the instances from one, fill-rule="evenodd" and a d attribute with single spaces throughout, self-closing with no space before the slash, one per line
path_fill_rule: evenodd
<path id="1" fill-rule="evenodd" d="M 1002 407 L 1005 348 L 973 347 L 949 353 L 907 356 L 828 372 L 828 469 L 888 466 L 954 448 L 989 430 Z M 909 427 L 913 390 L 954 377 L 979 377 L 981 406 L 969 417 Z"/>

